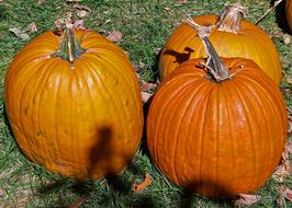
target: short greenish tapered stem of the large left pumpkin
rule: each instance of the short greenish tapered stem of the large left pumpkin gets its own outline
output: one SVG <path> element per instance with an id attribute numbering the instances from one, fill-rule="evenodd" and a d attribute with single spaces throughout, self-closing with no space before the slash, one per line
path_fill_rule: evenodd
<path id="1" fill-rule="evenodd" d="M 81 47 L 80 42 L 74 34 L 72 24 L 67 23 L 61 36 L 60 47 L 57 53 L 53 54 L 53 56 L 60 57 L 72 63 L 75 59 L 79 58 L 85 51 L 86 49 Z"/>

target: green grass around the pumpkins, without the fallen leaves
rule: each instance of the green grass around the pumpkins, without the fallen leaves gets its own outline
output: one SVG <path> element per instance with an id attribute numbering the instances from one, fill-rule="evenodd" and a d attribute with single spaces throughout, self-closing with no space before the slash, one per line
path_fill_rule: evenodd
<path id="1" fill-rule="evenodd" d="M 226 0 L 196 0 L 186 3 L 167 0 L 83 0 L 91 9 L 85 18 L 85 26 L 105 34 L 121 31 L 119 45 L 127 53 L 135 69 L 146 81 L 157 76 L 157 50 L 164 46 L 173 27 L 186 14 L 218 13 Z M 255 22 L 269 8 L 270 1 L 242 1 L 248 10 L 247 19 Z M 281 9 L 281 8 L 279 8 Z M 3 0 L 0 2 L 0 93 L 3 94 L 4 74 L 13 56 L 30 41 L 21 41 L 9 28 L 24 28 L 35 22 L 38 31 L 31 39 L 54 27 L 66 11 L 76 11 L 74 3 L 64 0 Z M 277 44 L 284 76 L 292 76 L 292 42 L 288 35 L 281 11 L 272 12 L 259 24 Z M 289 36 L 289 35 L 288 35 Z M 291 36 L 290 36 L 291 37 Z M 292 108 L 291 85 L 281 83 L 287 104 Z M 290 138 L 291 139 L 291 138 Z M 0 207 L 68 207 L 85 197 L 82 207 L 232 207 L 229 201 L 214 201 L 193 196 L 168 182 L 153 165 L 143 140 L 132 164 L 120 175 L 86 183 L 50 174 L 31 163 L 19 150 L 11 134 L 0 97 Z M 144 192 L 133 194 L 131 186 L 150 173 L 154 183 Z M 277 182 L 270 178 L 257 192 L 262 199 L 250 207 L 277 207 Z M 292 187 L 290 175 L 284 185 Z M 81 198 L 82 199 L 82 198 Z M 292 204 L 285 200 L 287 207 Z"/>

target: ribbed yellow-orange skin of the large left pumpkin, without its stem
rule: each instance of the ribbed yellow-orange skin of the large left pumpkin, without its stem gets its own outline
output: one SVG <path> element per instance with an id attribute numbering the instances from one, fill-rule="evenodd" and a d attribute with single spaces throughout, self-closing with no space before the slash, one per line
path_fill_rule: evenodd
<path id="1" fill-rule="evenodd" d="M 142 138 L 135 71 L 121 48 L 75 30 L 86 49 L 70 63 L 53 57 L 60 37 L 40 35 L 8 69 L 4 101 L 19 147 L 48 171 L 80 180 L 121 172 Z"/>

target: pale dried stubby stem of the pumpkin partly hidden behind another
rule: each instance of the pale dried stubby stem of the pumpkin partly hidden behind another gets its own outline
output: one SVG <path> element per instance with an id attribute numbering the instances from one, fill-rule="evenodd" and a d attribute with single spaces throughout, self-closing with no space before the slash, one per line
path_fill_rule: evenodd
<path id="1" fill-rule="evenodd" d="M 217 31 L 237 34 L 242 28 L 242 18 L 245 16 L 245 8 L 239 3 L 227 5 L 216 22 Z"/>

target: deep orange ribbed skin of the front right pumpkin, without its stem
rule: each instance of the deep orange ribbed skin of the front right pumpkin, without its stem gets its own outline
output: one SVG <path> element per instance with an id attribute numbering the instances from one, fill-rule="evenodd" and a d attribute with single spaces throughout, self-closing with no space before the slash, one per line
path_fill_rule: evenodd
<path id="1" fill-rule="evenodd" d="M 180 65 L 147 117 L 154 163 L 176 184 L 212 198 L 261 187 L 281 159 L 288 128 L 277 84 L 251 60 L 222 60 L 237 73 L 220 83 L 196 67 L 204 59 Z"/>

